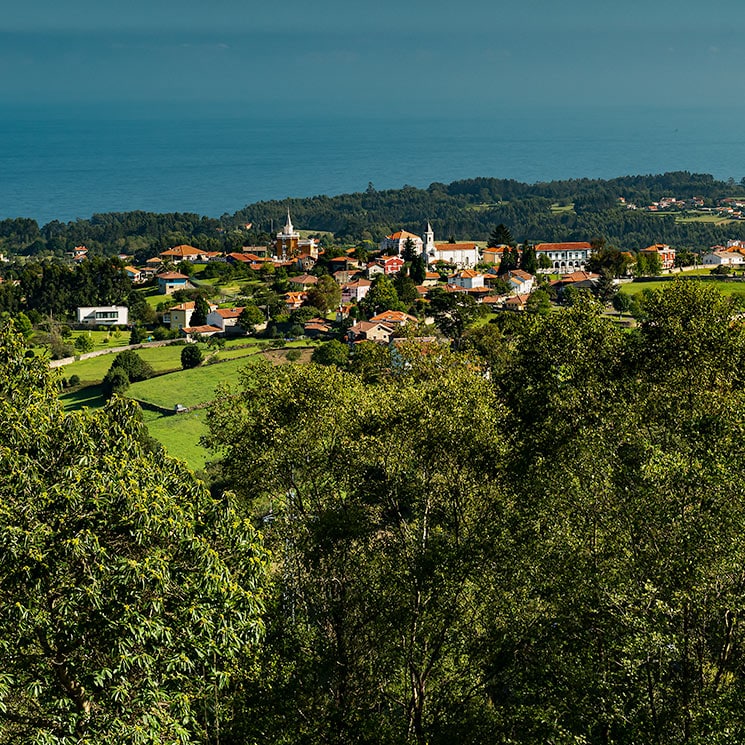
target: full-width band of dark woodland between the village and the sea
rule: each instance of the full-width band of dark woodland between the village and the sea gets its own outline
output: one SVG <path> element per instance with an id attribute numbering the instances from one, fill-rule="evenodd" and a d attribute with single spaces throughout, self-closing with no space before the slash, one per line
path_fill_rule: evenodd
<path id="1" fill-rule="evenodd" d="M 377 243 L 404 228 L 421 233 L 430 220 L 440 240 L 486 240 L 497 224 L 506 225 L 515 240 L 605 240 L 621 249 L 638 250 L 654 243 L 678 249 L 700 249 L 727 239 L 745 239 L 745 222 L 727 226 L 676 222 L 673 215 L 627 210 L 619 197 L 640 207 L 665 196 L 703 197 L 715 205 L 725 197 L 745 195 L 745 186 L 716 181 L 685 171 L 612 180 L 572 179 L 524 184 L 513 180 L 476 178 L 427 189 L 405 186 L 335 197 L 259 202 L 234 215 L 218 218 L 196 214 L 126 212 L 93 215 L 69 223 L 39 226 L 34 220 L 0 221 L 0 251 L 7 255 L 62 256 L 85 244 L 93 252 L 133 254 L 137 261 L 179 243 L 204 250 L 236 250 L 265 243 L 284 224 L 288 207 L 295 225 L 330 231 L 345 242 Z M 566 211 L 552 205 L 574 205 Z M 246 225 L 251 225 L 246 228 Z"/>

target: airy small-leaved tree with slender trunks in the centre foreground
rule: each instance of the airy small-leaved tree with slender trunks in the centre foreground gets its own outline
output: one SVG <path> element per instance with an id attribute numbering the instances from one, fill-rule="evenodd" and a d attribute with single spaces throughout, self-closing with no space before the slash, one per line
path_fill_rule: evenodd
<path id="1" fill-rule="evenodd" d="M 483 741 L 474 629 L 511 548 L 492 519 L 494 388 L 464 364 L 375 386 L 286 367 L 252 366 L 209 412 L 223 477 L 257 516 L 271 509 L 276 560 L 262 684 L 235 740 L 284 722 L 290 742 Z"/>

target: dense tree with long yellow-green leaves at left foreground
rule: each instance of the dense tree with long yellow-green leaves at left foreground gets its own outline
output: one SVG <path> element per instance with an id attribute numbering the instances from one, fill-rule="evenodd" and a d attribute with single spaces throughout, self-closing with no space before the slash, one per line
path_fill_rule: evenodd
<path id="1" fill-rule="evenodd" d="M 134 404 L 66 413 L 0 335 L 0 741 L 212 741 L 262 628 L 258 536 Z"/>

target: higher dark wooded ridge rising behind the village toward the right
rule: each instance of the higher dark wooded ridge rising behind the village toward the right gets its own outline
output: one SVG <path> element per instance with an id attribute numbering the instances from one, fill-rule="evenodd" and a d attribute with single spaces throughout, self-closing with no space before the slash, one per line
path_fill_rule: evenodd
<path id="1" fill-rule="evenodd" d="M 368 239 L 377 243 L 400 228 L 420 234 L 429 220 L 439 240 L 486 240 L 493 227 L 502 223 L 520 242 L 604 238 L 623 249 L 638 250 L 657 242 L 702 248 L 745 237 L 745 224 L 726 228 L 676 224 L 672 216 L 627 210 L 619 206 L 618 198 L 645 206 L 664 196 L 701 196 L 713 205 L 723 197 L 743 194 L 742 185 L 685 171 L 538 184 L 478 178 L 433 183 L 427 189 L 406 186 L 377 191 L 371 185 L 364 193 L 259 202 L 237 212 L 230 222 L 252 220 L 269 231 L 284 224 L 289 207 L 295 225 L 330 230 L 350 242 Z M 557 203 L 574 204 L 575 211 L 553 211 L 551 206 Z"/>

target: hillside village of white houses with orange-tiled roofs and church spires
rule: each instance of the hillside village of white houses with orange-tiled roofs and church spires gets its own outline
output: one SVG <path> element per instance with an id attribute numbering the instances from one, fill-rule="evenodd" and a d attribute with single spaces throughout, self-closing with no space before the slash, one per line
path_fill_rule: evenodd
<path id="1" fill-rule="evenodd" d="M 503 226 L 500 226 L 503 227 Z M 85 261 L 85 247 L 71 257 Z M 501 311 L 546 311 L 560 306 L 579 290 L 610 301 L 619 287 L 635 275 L 665 275 L 697 268 L 726 274 L 745 264 L 745 242 L 728 241 L 699 254 L 687 254 L 691 266 L 681 266 L 674 247 L 655 244 L 633 254 L 615 252 L 621 263 L 614 271 L 603 268 L 607 251 L 590 242 L 537 243 L 518 246 L 490 241 L 443 242 L 435 238 L 429 223 L 423 234 L 398 230 L 385 236 L 374 252 L 361 254 L 357 247 L 337 248 L 331 257 L 317 237 L 303 237 L 288 210 L 286 223 L 269 246 L 244 246 L 223 253 L 178 245 L 151 257 L 142 266 L 124 269 L 135 287 L 150 286 L 153 300 L 159 299 L 157 323 L 187 341 L 212 336 L 236 336 L 266 332 L 272 320 L 292 320 L 292 336 L 325 339 L 338 336 L 350 342 L 388 343 L 409 323 L 432 323 L 428 305 L 433 294 L 465 297 L 483 313 Z M 123 260 L 131 257 L 122 256 Z M 214 287 L 198 279 L 210 264 L 231 264 L 237 271 L 259 277 L 275 290 L 285 287 L 272 307 L 260 295 L 250 304 L 235 298 L 207 296 L 204 313 L 199 312 L 205 288 Z M 619 266 L 621 267 L 619 269 Z M 385 279 L 381 279 L 385 278 Z M 383 283 L 404 283 L 405 292 L 370 294 Z M 156 289 L 157 288 L 157 289 Z M 398 295 L 402 294 L 403 297 Z M 174 296 L 178 302 L 169 303 Z M 245 299 L 245 298 L 239 298 Z M 247 310 L 248 307 L 248 310 Z M 311 310 L 312 309 L 312 310 Z M 305 312 L 301 312 L 305 311 Z M 133 319 L 121 305 L 79 307 L 81 327 L 127 326 Z M 299 328 L 301 325 L 301 328 Z M 285 323 L 287 326 L 287 323 Z M 275 324 L 272 328 L 277 328 Z"/>

